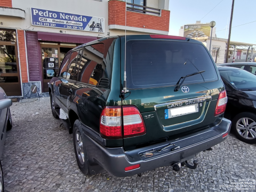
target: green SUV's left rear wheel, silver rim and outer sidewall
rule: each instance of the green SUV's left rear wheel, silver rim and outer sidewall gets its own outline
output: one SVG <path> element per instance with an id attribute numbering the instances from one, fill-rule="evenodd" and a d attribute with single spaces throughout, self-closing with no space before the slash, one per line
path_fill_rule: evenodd
<path id="1" fill-rule="evenodd" d="M 85 149 L 85 139 L 83 137 L 82 125 L 78 119 L 75 121 L 73 126 L 73 143 L 77 165 L 84 175 L 89 175 L 89 164 Z"/>

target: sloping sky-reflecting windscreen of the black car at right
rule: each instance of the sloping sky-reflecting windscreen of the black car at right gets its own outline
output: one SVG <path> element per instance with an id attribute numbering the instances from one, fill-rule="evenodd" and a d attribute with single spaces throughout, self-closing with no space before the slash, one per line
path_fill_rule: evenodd
<path id="1" fill-rule="evenodd" d="M 239 90 L 256 90 L 256 76 L 246 70 L 221 70 L 220 76 Z"/>

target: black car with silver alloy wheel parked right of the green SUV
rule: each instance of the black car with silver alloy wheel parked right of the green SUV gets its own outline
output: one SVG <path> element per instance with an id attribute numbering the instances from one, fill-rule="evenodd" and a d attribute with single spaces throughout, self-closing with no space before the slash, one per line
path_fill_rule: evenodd
<path id="1" fill-rule="evenodd" d="M 256 143 L 256 76 L 235 67 L 218 67 L 228 103 L 225 117 L 232 121 L 237 138 Z"/>

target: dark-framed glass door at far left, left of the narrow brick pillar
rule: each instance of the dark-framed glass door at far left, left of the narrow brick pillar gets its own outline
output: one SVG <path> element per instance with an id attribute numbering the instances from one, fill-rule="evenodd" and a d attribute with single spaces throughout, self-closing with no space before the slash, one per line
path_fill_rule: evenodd
<path id="1" fill-rule="evenodd" d="M 7 96 L 20 96 L 20 69 L 15 30 L 0 29 L 0 86 Z"/>

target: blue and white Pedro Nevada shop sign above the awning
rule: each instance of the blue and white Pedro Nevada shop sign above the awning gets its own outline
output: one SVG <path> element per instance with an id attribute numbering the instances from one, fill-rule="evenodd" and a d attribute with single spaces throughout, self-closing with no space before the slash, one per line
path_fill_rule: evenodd
<path id="1" fill-rule="evenodd" d="M 65 28 L 104 33 L 104 18 L 36 9 L 31 7 L 33 26 Z"/>

